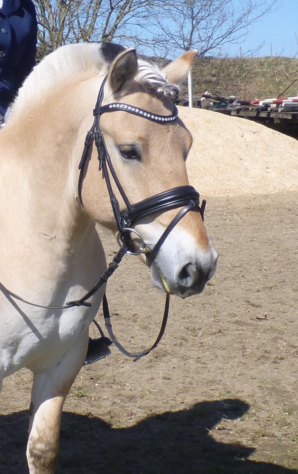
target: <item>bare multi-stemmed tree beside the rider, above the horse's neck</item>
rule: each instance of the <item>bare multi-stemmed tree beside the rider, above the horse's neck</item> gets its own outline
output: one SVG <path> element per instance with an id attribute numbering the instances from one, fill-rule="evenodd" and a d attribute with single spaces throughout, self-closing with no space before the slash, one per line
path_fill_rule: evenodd
<path id="1" fill-rule="evenodd" d="M 58 46 L 81 41 L 138 43 L 150 23 L 152 0 L 34 0 L 39 57 Z"/>

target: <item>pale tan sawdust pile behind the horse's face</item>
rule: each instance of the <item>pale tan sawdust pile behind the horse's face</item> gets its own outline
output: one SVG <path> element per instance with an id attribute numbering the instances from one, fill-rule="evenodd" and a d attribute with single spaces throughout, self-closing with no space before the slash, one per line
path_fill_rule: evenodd
<path id="1" fill-rule="evenodd" d="M 193 137 L 190 184 L 201 196 L 298 190 L 298 141 L 256 122 L 179 107 Z"/>

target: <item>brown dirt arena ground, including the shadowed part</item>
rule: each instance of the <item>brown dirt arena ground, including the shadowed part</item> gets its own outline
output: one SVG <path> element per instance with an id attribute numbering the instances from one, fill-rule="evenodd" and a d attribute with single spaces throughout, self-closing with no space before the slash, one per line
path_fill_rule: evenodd
<path id="1" fill-rule="evenodd" d="M 216 275 L 201 295 L 171 297 L 150 355 L 134 363 L 114 347 L 81 369 L 64 407 L 57 474 L 298 472 L 297 200 L 208 199 Z M 100 235 L 111 256 L 116 244 Z M 137 258 L 125 258 L 108 299 L 121 342 L 150 346 L 164 295 Z M 24 370 L 3 384 L 1 474 L 28 472 L 30 381 Z"/>

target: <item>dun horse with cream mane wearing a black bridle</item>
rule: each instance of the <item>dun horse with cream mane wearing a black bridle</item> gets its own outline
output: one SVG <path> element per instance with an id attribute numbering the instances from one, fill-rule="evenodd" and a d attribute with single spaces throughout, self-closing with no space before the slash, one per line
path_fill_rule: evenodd
<path id="1" fill-rule="evenodd" d="M 54 473 L 63 403 L 104 297 L 106 280 L 90 292 L 107 269 L 95 225 L 167 294 L 200 293 L 216 270 L 174 105 L 196 54 L 159 69 L 134 48 L 62 46 L 29 74 L 0 132 L 0 387 L 33 373 L 30 474 Z"/>

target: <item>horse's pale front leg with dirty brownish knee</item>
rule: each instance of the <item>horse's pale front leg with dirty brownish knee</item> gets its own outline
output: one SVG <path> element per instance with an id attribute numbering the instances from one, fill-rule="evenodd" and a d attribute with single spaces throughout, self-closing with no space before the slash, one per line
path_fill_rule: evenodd
<path id="1" fill-rule="evenodd" d="M 88 333 L 46 373 L 34 374 L 27 461 L 30 474 L 53 474 L 59 454 L 63 403 L 86 356 Z"/>

